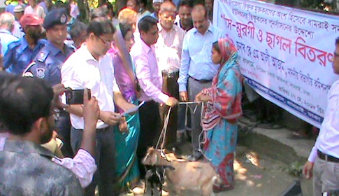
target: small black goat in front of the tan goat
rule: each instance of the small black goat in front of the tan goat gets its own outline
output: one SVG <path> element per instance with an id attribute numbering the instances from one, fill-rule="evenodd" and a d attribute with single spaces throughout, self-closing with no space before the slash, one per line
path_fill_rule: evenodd
<path id="1" fill-rule="evenodd" d="M 171 166 L 167 165 L 152 165 L 150 169 L 147 170 L 145 174 L 145 190 L 144 193 L 147 192 L 148 184 L 151 186 L 151 194 L 152 196 L 155 193 L 155 190 L 160 192 L 160 196 L 162 195 L 162 185 L 165 183 L 165 169 L 174 169 Z M 154 188 L 156 188 L 154 190 Z"/>

